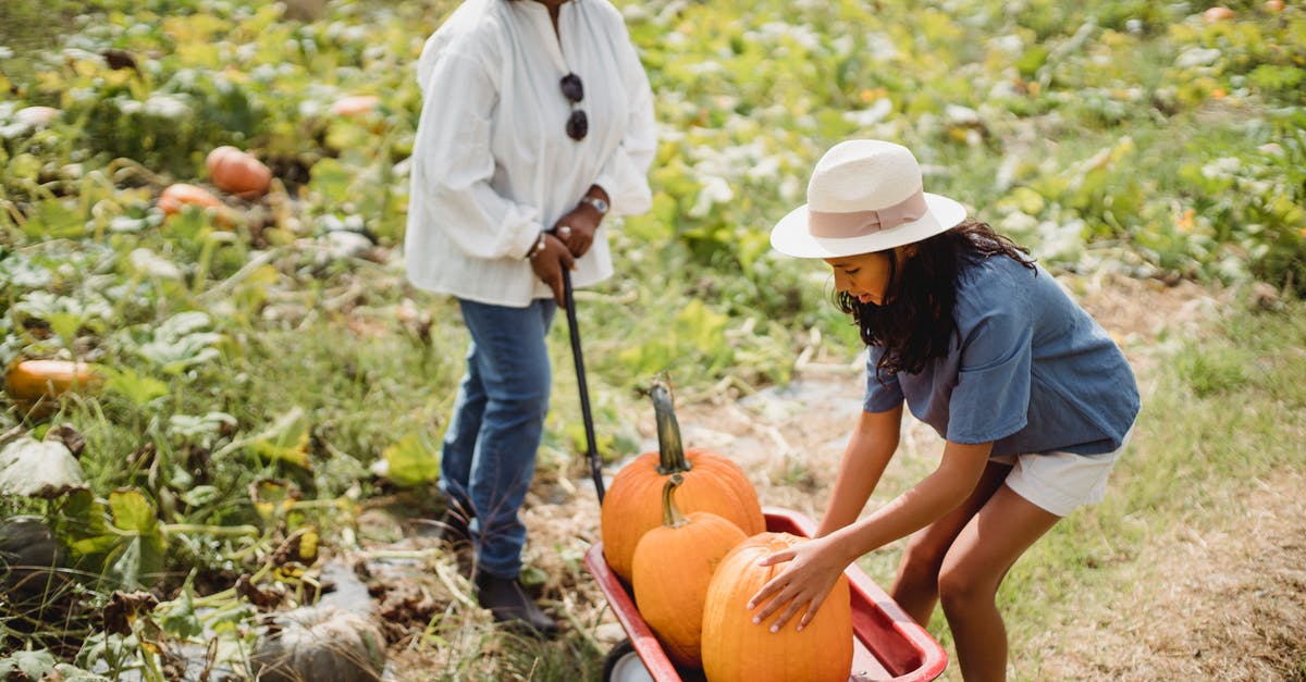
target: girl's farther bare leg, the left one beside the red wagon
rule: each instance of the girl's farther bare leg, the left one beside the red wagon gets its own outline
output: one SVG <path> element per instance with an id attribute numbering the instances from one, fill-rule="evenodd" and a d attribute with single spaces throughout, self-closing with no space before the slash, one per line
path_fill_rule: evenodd
<path id="1" fill-rule="evenodd" d="M 908 540 L 902 560 L 899 563 L 897 576 L 889 588 L 889 596 L 917 623 L 922 626 L 930 623 L 930 614 L 934 613 L 934 605 L 939 601 L 939 568 L 943 566 L 943 557 L 948 554 L 952 541 L 970 521 L 970 517 L 989 502 L 994 491 L 1002 486 L 1008 472 L 1011 472 L 1008 465 L 989 463 L 974 491 L 960 507 L 916 532 Z"/>

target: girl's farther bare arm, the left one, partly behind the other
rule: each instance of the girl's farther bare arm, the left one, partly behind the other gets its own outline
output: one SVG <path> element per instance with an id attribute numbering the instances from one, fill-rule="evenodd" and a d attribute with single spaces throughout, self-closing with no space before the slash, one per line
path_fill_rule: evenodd
<path id="1" fill-rule="evenodd" d="M 902 404 L 888 412 L 863 412 L 844 449 L 838 477 L 816 528 L 824 537 L 857 520 L 897 449 L 902 425 Z"/>

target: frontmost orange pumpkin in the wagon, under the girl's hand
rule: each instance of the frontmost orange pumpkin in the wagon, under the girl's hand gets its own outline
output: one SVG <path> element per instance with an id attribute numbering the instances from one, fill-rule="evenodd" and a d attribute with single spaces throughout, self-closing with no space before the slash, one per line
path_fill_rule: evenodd
<path id="1" fill-rule="evenodd" d="M 807 538 L 760 533 L 735 546 L 708 585 L 703 611 L 703 672 L 710 682 L 845 682 L 853 672 L 853 606 L 840 575 L 810 623 L 795 615 L 778 632 L 754 623 L 748 600 L 786 564 L 757 566 L 772 553 Z M 760 606 L 759 606 L 760 608 Z M 771 617 L 772 621 L 777 614 Z"/>

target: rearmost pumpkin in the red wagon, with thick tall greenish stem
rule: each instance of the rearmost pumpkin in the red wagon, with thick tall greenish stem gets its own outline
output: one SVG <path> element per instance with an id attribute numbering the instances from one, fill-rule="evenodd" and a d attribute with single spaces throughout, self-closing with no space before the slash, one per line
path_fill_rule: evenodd
<path id="1" fill-rule="evenodd" d="M 662 382 L 650 391 L 657 413 L 658 451 L 627 464 L 609 486 L 601 511 L 603 558 L 613 572 L 631 580 L 635 547 L 644 533 L 662 523 L 662 486 L 674 474 L 684 476 L 675 493 L 686 513 L 705 511 L 738 525 L 746 536 L 767 529 L 757 491 L 734 461 L 703 448 L 684 449 L 671 392 Z"/>

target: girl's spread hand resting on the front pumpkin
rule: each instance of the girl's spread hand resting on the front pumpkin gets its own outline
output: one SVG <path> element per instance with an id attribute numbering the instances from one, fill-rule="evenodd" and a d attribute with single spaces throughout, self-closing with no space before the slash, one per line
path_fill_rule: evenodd
<path id="1" fill-rule="evenodd" d="M 778 632 L 790 618 L 801 611 L 798 630 L 802 630 L 816 617 L 816 611 L 850 560 L 844 558 L 842 553 L 838 551 L 838 545 L 831 537 L 808 540 L 784 551 L 763 557 L 757 562 L 759 566 L 790 563 L 784 572 L 761 585 L 761 589 L 748 600 L 748 609 L 756 609 L 757 605 L 774 597 L 754 614 L 752 622 L 763 623 L 778 610 L 781 611 L 780 617 L 771 625 L 771 631 Z"/>

